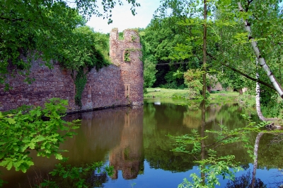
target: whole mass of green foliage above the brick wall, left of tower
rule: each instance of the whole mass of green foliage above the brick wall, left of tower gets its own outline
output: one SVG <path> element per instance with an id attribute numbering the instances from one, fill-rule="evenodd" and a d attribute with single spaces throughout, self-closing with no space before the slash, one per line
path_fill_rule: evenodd
<path id="1" fill-rule="evenodd" d="M 132 5 L 131 11 L 135 14 L 135 7 L 139 4 L 135 0 L 127 3 Z M 103 16 L 109 18 L 110 23 L 111 9 L 116 4 L 122 5 L 122 1 L 103 0 L 99 5 L 94 0 L 40 0 L 28 3 L 1 0 L 0 84 L 6 83 L 8 74 L 14 74 L 8 71 L 8 66 L 13 65 L 19 74 L 28 76 L 30 63 L 37 59 L 42 59 L 48 67 L 52 67 L 52 62 L 59 61 L 65 68 L 74 70 L 79 70 L 82 63 L 86 67 L 104 65 L 100 62 L 98 52 L 101 50 L 98 45 L 101 44 L 96 43 L 98 40 L 93 40 L 93 36 L 99 36 L 85 26 L 85 18 L 90 18 L 91 15 Z M 28 81 L 29 78 L 26 79 Z"/>

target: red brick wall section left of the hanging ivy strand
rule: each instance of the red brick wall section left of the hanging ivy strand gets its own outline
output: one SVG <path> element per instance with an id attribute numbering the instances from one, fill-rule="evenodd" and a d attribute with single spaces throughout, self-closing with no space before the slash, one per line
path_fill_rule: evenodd
<path id="1" fill-rule="evenodd" d="M 9 67 L 13 70 L 13 67 Z M 4 86 L 0 85 L 0 110 L 7 111 L 19 106 L 35 105 L 43 106 L 47 99 L 52 97 L 68 99 L 69 109 L 74 106 L 74 82 L 70 72 L 62 70 L 59 65 L 54 65 L 50 70 L 42 65 L 40 60 L 33 61 L 29 77 L 34 78 L 32 84 L 23 82 L 25 76 L 16 74 L 15 77 L 7 78 L 8 84 L 13 87 L 4 92 Z"/>

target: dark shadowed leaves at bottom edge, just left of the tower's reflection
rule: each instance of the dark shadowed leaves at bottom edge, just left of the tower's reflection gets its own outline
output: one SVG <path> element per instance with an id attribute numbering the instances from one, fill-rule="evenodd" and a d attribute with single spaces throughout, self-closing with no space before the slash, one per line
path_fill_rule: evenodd
<path id="1" fill-rule="evenodd" d="M 40 184 L 40 187 L 60 187 L 60 184 L 64 184 L 65 182 L 68 184 L 68 187 L 100 187 L 106 180 L 103 177 L 107 175 L 111 176 L 114 172 L 113 170 L 114 168 L 111 166 L 103 167 L 103 162 L 93 162 L 91 165 L 86 165 L 85 167 L 72 167 L 71 165 L 62 165 L 59 163 L 50 172 L 50 175 L 56 181 L 45 179 Z M 93 179 L 92 181 L 89 181 L 89 176 Z"/>

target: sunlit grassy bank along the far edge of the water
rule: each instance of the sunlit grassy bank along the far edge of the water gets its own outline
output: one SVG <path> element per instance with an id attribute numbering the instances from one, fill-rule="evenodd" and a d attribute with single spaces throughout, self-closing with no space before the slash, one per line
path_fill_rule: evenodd
<path id="1" fill-rule="evenodd" d="M 164 88 L 147 88 L 147 93 L 144 94 L 145 99 L 151 98 L 175 98 L 175 99 L 190 99 L 187 89 L 164 89 Z M 208 97 L 210 102 L 228 103 L 238 102 L 244 106 L 255 106 L 255 96 L 249 94 L 239 95 L 238 92 L 214 92 Z"/>

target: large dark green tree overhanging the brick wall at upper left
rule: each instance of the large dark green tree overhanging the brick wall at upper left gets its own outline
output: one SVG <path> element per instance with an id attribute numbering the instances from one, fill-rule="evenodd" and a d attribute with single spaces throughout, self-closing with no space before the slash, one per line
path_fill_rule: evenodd
<path id="1" fill-rule="evenodd" d="M 73 40 L 74 30 L 85 25 L 84 18 L 103 16 L 111 23 L 111 9 L 116 4 L 122 5 L 120 0 L 103 0 L 101 5 L 96 0 L 0 2 L 0 84 L 5 83 L 6 74 L 11 74 L 9 64 L 25 74 L 28 74 L 32 58 L 42 58 L 45 65 L 52 67 L 51 60 L 62 60 L 57 52 L 69 50 L 65 45 Z M 135 7 L 139 4 L 135 0 L 127 2 L 132 4 L 131 10 L 135 14 Z M 71 8 L 73 6 L 76 8 Z M 99 6 L 103 7 L 103 13 L 98 11 Z M 28 61 L 23 61 L 21 55 L 28 56 Z"/>

